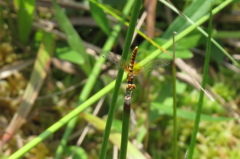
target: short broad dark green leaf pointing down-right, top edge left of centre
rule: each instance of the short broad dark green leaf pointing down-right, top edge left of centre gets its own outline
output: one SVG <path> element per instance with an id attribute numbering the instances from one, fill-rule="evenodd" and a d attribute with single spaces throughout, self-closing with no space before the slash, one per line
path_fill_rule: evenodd
<path id="1" fill-rule="evenodd" d="M 94 1 L 94 0 L 93 0 Z M 101 8 L 99 8 L 96 4 L 89 1 L 90 4 L 90 11 L 94 18 L 94 20 L 97 22 L 99 27 L 102 29 L 102 31 L 109 35 L 111 32 L 109 21 L 106 17 L 106 14 L 103 12 Z"/>

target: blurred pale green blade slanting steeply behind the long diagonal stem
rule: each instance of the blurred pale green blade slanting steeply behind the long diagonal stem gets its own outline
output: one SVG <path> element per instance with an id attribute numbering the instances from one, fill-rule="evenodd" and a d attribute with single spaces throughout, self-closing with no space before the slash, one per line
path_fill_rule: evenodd
<path id="1" fill-rule="evenodd" d="M 124 7 L 123 15 L 125 15 L 125 17 L 129 14 L 133 2 L 134 2 L 133 0 L 129 0 L 128 3 L 126 4 L 126 6 Z M 112 49 L 116 39 L 118 38 L 118 34 L 121 31 L 122 24 L 123 24 L 122 22 L 119 22 L 113 28 L 113 31 L 111 32 L 111 34 L 109 35 L 106 43 L 103 46 L 103 50 L 102 50 L 101 54 L 105 55 L 106 52 L 110 52 L 110 50 Z M 93 89 L 93 87 L 96 83 L 98 75 L 101 72 L 101 68 L 102 68 L 101 66 L 104 64 L 105 60 L 106 60 L 105 58 L 99 58 L 99 60 L 95 63 L 95 65 L 94 65 L 94 67 L 93 67 L 93 69 L 92 69 L 92 71 L 91 71 L 91 73 L 88 77 L 87 83 L 84 85 L 84 87 L 82 89 L 82 92 L 79 96 L 79 102 L 78 102 L 79 104 L 81 104 L 85 100 L 87 100 L 90 92 L 92 91 L 92 89 Z M 61 158 L 61 156 L 63 154 L 63 150 L 65 149 L 65 147 L 67 145 L 66 141 L 68 140 L 73 128 L 75 127 L 77 119 L 78 118 L 75 117 L 68 123 L 68 125 L 66 127 L 66 130 L 64 132 L 63 138 L 60 142 L 60 145 L 57 148 L 55 159 Z"/>

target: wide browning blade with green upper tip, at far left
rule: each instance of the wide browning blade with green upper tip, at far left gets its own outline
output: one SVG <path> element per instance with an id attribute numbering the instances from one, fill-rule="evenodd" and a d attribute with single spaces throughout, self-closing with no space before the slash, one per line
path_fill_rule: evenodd
<path id="1" fill-rule="evenodd" d="M 10 125 L 7 127 L 6 133 L 2 137 L 3 143 L 9 141 L 22 124 L 26 122 L 28 113 L 30 112 L 47 76 L 51 56 L 53 55 L 53 46 L 53 36 L 49 33 L 45 33 L 42 44 L 38 50 L 30 81 L 22 97 L 22 102 L 11 120 Z"/>

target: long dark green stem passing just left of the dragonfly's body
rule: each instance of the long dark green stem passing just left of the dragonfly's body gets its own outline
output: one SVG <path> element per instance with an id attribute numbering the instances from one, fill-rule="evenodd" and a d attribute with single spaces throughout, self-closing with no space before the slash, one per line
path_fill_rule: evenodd
<path id="1" fill-rule="evenodd" d="M 138 18 L 138 14 L 139 14 L 139 10 L 140 10 L 140 5 L 141 5 L 141 0 L 135 0 L 134 7 L 132 10 L 132 14 L 131 14 L 130 25 L 129 25 L 128 32 L 126 35 L 123 53 L 122 53 L 122 59 L 124 59 L 124 60 L 127 59 L 127 55 L 128 55 L 129 49 L 130 49 L 134 29 L 135 29 L 135 26 L 137 23 L 137 18 Z M 117 98 L 118 98 L 118 92 L 119 92 L 119 88 L 121 85 L 122 77 L 123 77 L 123 70 L 119 69 L 117 79 L 116 79 L 115 89 L 113 92 L 113 98 L 112 98 L 112 102 L 111 102 L 111 106 L 110 106 L 109 114 L 108 114 L 108 118 L 107 118 L 107 124 L 106 124 L 106 128 L 105 128 L 104 136 L 103 136 L 103 143 L 102 143 L 102 148 L 101 148 L 100 156 L 99 156 L 99 158 L 101 158 L 101 159 L 104 159 L 106 156 L 107 143 L 108 143 L 111 127 L 112 127 L 113 115 L 114 115 L 115 108 L 116 108 L 116 102 L 117 102 Z"/>

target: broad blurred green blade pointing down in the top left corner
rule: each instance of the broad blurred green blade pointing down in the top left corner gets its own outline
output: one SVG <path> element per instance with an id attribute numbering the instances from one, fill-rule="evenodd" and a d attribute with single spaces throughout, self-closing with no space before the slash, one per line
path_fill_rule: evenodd
<path id="1" fill-rule="evenodd" d="M 32 30 L 32 22 L 34 19 L 35 0 L 19 0 L 15 1 L 17 5 L 18 16 L 18 36 L 19 40 L 26 44 Z"/>

